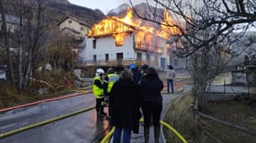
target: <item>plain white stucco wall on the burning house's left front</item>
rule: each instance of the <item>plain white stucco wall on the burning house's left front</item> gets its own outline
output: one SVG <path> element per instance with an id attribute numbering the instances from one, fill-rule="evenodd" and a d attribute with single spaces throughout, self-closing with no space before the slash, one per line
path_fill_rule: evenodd
<path id="1" fill-rule="evenodd" d="M 93 49 L 93 38 L 86 39 L 86 61 L 93 61 L 93 55 L 98 60 L 105 60 L 105 55 L 109 54 L 109 60 L 116 60 L 118 53 L 123 53 L 124 59 L 134 59 L 135 50 L 133 47 L 133 35 L 128 34 L 125 38 L 123 46 L 116 46 L 113 37 L 95 38 L 96 48 Z"/>

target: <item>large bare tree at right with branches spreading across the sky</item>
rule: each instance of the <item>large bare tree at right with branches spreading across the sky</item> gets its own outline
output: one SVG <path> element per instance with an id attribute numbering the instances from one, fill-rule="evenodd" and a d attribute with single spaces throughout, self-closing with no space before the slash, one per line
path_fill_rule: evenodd
<path id="1" fill-rule="evenodd" d="M 210 81 L 225 65 L 220 56 L 225 52 L 223 47 L 232 45 L 248 29 L 256 27 L 254 0 L 146 0 L 147 14 L 137 11 L 135 1 L 129 2 L 137 17 L 179 30 L 179 34 L 169 34 L 181 43 L 176 47 L 181 51 L 178 56 L 190 56 L 193 91 L 199 108 Z M 166 19 L 158 9 L 171 13 L 173 21 Z M 240 31 L 235 37 L 234 30 Z"/>

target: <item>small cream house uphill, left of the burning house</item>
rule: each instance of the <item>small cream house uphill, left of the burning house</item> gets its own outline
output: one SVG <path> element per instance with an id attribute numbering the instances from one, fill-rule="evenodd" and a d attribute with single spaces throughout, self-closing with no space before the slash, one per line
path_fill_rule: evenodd
<path id="1" fill-rule="evenodd" d="M 60 30 L 66 32 L 76 39 L 82 39 L 87 36 L 90 25 L 85 21 L 81 21 L 72 16 L 66 16 L 62 21 L 57 23 Z"/>

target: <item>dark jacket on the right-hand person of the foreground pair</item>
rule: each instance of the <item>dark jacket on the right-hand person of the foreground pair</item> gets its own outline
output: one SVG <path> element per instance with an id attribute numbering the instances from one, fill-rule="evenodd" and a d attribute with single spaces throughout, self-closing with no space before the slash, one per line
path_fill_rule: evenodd
<path id="1" fill-rule="evenodd" d="M 144 103 L 162 104 L 163 97 L 161 90 L 163 89 L 163 81 L 158 77 L 144 77 L 139 85 Z"/>

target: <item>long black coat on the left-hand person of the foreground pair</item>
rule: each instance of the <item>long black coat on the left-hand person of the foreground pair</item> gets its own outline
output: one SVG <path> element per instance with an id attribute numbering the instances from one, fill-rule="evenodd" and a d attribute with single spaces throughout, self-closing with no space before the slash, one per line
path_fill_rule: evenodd
<path id="1" fill-rule="evenodd" d="M 118 80 L 110 91 L 111 124 L 138 133 L 141 97 L 132 80 Z"/>

